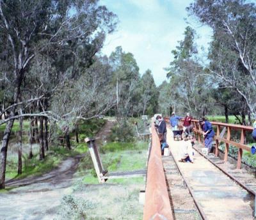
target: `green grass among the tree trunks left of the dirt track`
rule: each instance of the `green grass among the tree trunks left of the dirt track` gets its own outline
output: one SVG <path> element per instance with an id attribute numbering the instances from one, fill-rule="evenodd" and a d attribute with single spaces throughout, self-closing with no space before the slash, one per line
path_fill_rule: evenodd
<path id="1" fill-rule="evenodd" d="M 6 162 L 6 180 L 12 178 L 25 178 L 28 176 L 38 176 L 51 171 L 56 168 L 58 164 L 67 157 L 74 157 L 78 154 L 86 153 L 88 151 L 87 144 L 84 143 L 83 136 L 93 136 L 101 127 L 106 123 L 106 120 L 93 119 L 79 125 L 79 141 L 74 141 L 74 134 L 71 136 L 72 150 L 68 150 L 63 146 L 49 146 L 49 151 L 45 152 L 44 161 L 39 161 L 39 145 L 33 145 L 32 159 L 28 159 L 29 145 L 28 138 L 24 138 L 22 146 L 22 174 L 17 175 L 18 156 L 17 156 L 17 143 L 15 143 L 15 136 L 10 139 L 8 156 Z M 24 121 L 24 129 L 29 128 L 29 121 Z M 1 125 L 0 130 L 4 130 L 5 125 Z M 15 122 L 12 131 L 19 130 L 19 122 Z"/>

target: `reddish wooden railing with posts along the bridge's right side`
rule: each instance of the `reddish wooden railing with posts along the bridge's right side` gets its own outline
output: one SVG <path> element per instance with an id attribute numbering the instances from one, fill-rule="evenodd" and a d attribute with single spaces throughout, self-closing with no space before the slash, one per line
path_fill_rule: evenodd
<path id="1" fill-rule="evenodd" d="M 165 117 L 164 120 L 166 122 L 169 122 L 170 118 Z M 194 132 L 198 136 L 198 142 L 202 143 L 202 134 L 204 133 L 200 124 L 199 120 L 191 120 L 194 126 Z M 221 123 L 221 122 L 211 122 L 212 125 L 217 127 L 216 135 L 214 136 L 214 139 L 216 140 L 216 148 L 215 148 L 215 155 L 218 156 L 218 148 L 221 142 L 225 143 L 225 155 L 224 155 L 224 161 L 227 162 L 228 159 L 228 148 L 230 145 L 236 146 L 238 148 L 238 155 L 237 155 L 237 169 L 241 168 L 241 162 L 242 162 L 242 156 L 243 156 L 243 150 L 246 150 L 250 152 L 251 148 L 250 146 L 245 145 L 245 136 L 246 132 L 252 132 L 253 127 L 251 126 L 245 126 L 245 125 L 234 125 L 229 123 Z M 226 138 L 223 138 L 220 136 L 220 130 L 221 127 L 226 127 L 225 133 Z M 241 138 L 240 142 L 232 141 L 231 139 L 231 130 L 241 130 Z"/>

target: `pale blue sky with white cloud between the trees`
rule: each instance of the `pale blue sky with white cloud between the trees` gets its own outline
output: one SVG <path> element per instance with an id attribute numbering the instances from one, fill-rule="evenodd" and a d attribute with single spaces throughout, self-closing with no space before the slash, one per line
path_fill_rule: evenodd
<path id="1" fill-rule="evenodd" d="M 200 51 L 201 56 L 211 41 L 211 29 L 188 17 L 189 3 L 191 0 L 100 0 L 119 20 L 115 33 L 107 36 L 102 54 L 109 56 L 122 46 L 123 51 L 134 54 L 140 74 L 150 69 L 159 86 L 167 80 L 164 68 L 172 61 L 171 51 L 183 40 L 186 26 L 196 30 L 198 49 L 206 49 Z"/>

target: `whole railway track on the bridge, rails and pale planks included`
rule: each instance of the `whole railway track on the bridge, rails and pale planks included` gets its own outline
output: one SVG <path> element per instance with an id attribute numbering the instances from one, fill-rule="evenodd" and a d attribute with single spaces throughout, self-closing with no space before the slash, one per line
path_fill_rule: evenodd
<path id="1" fill-rule="evenodd" d="M 230 169 L 231 175 L 220 169 L 227 166 L 221 159 L 203 157 L 199 149 L 194 164 L 178 162 L 182 141 L 169 136 L 168 145 L 171 155 L 163 157 L 163 166 L 175 219 L 254 219 L 252 175 L 244 183 L 243 171 Z"/>

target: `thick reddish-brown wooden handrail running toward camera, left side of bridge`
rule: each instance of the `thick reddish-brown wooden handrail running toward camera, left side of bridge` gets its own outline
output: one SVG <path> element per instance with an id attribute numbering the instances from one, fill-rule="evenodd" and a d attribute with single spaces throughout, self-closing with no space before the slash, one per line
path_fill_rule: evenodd
<path id="1" fill-rule="evenodd" d="M 152 149 L 148 160 L 147 185 L 143 220 L 173 219 L 172 208 L 168 196 L 161 158 L 160 141 L 154 127 L 151 125 Z"/>

